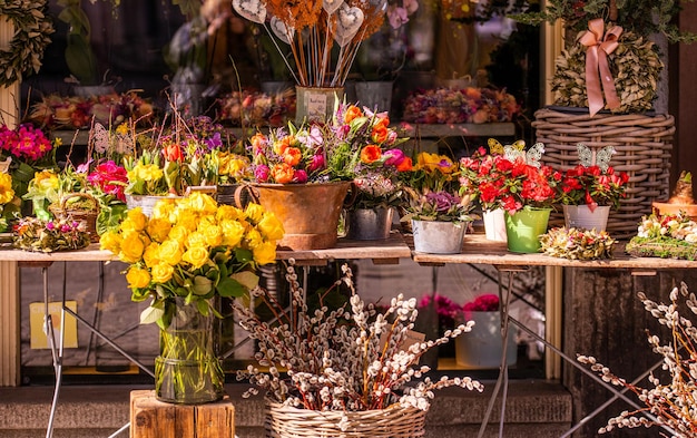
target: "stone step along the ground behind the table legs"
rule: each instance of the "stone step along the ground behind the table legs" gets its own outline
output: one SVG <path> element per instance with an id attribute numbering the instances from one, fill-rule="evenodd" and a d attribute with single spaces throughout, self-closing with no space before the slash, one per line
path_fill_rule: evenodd
<path id="1" fill-rule="evenodd" d="M 438 391 L 426 416 L 426 437 L 475 436 L 494 388 L 482 381 L 483 393 L 460 388 Z M 239 438 L 263 437 L 263 399 L 243 399 L 243 385 L 226 386 L 235 401 L 236 434 Z M 134 386 L 63 386 L 55 417 L 55 438 L 109 437 L 129 421 Z M 52 387 L 0 388 L 0 437 L 24 438 L 46 435 Z M 495 403 L 485 437 L 498 436 L 500 402 Z M 511 380 L 505 405 L 505 436 L 517 438 L 558 437 L 571 426 L 571 396 L 558 382 Z M 128 437 L 128 431 L 116 435 Z"/>

